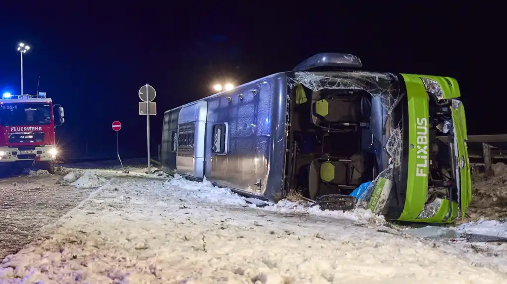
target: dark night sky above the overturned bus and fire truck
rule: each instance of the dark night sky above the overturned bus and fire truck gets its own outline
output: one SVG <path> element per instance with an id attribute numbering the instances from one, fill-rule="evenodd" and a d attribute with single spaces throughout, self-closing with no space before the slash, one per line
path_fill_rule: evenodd
<path id="1" fill-rule="evenodd" d="M 37 92 L 41 76 L 40 91 L 65 108 L 56 130 L 60 148 L 115 155 L 111 123 L 120 120 L 120 154 L 134 157 L 146 153 L 146 117 L 137 114 L 143 84 L 157 90 L 155 154 L 163 112 L 209 96 L 214 82 L 239 85 L 289 71 L 319 52 L 342 52 L 371 71 L 455 77 L 468 134 L 507 133 L 505 77 L 496 73 L 505 65 L 505 52 L 497 52 L 504 23 L 492 6 L 175 3 L 3 1 L 0 88 L 20 92 L 16 45 L 29 44 L 25 93 Z"/>

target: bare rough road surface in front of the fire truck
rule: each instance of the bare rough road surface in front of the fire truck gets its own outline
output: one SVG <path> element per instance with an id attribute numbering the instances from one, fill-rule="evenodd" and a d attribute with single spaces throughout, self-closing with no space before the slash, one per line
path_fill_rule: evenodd
<path id="1" fill-rule="evenodd" d="M 62 176 L 0 179 L 0 260 L 85 200 L 93 188 L 59 184 Z"/>

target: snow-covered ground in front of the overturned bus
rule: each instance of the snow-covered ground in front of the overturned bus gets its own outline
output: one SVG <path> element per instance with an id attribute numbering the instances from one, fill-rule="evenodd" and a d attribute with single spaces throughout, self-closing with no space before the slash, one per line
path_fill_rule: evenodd
<path id="1" fill-rule="evenodd" d="M 505 283 L 507 245 L 427 240 L 369 211 L 257 208 L 208 182 L 65 170 L 96 188 L 3 260 L 1 283 Z M 501 232 L 503 224 L 464 224 Z M 503 233 L 505 233 L 503 231 Z"/>

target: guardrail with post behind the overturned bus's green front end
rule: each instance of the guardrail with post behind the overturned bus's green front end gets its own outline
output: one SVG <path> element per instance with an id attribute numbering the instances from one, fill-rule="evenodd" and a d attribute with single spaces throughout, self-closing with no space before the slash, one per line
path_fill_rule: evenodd
<path id="1" fill-rule="evenodd" d="M 438 139 L 449 142 L 447 136 Z M 470 165 L 484 166 L 486 175 L 490 175 L 491 165 L 497 162 L 507 162 L 507 134 L 468 135 L 466 144 Z"/>

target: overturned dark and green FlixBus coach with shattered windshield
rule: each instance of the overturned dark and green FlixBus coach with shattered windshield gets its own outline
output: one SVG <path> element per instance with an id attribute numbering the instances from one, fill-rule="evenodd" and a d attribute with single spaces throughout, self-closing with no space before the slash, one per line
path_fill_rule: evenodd
<path id="1" fill-rule="evenodd" d="M 317 54 L 293 71 L 166 111 L 163 170 L 260 199 L 296 192 L 323 208 L 368 208 L 390 220 L 463 216 L 472 193 L 457 81 L 361 67 L 350 54 Z"/>

